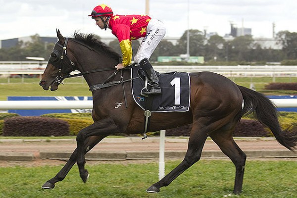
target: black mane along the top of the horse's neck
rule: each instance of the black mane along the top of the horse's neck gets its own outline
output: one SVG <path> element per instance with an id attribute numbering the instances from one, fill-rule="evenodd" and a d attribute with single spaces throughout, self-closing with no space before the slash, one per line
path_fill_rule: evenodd
<path id="1" fill-rule="evenodd" d="M 107 46 L 104 42 L 100 41 L 99 38 L 94 34 L 82 34 L 74 32 L 74 39 L 80 43 L 83 43 L 95 51 L 104 52 L 107 56 L 119 60 L 121 57 L 114 49 Z"/>

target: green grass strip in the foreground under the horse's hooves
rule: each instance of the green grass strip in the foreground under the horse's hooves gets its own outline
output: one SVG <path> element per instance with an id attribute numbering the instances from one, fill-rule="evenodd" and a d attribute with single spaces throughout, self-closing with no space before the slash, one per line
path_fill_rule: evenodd
<path id="1" fill-rule="evenodd" d="M 180 161 L 166 162 L 166 173 Z M 1 198 L 223 198 L 233 190 L 235 168 L 224 160 L 201 160 L 158 194 L 145 190 L 158 180 L 157 163 L 86 165 L 84 184 L 75 165 L 53 190 L 45 181 L 61 166 L 0 168 Z M 296 161 L 247 161 L 240 198 L 296 198 Z M 238 196 L 232 196 L 238 197 Z"/>

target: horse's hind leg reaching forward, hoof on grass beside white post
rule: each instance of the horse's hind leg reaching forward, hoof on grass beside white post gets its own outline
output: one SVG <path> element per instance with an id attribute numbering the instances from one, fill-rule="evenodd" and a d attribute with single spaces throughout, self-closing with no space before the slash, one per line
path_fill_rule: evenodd
<path id="1" fill-rule="evenodd" d="M 163 186 L 168 186 L 175 178 L 187 170 L 190 166 L 196 163 L 200 157 L 204 143 L 208 137 L 205 130 L 200 129 L 200 127 L 195 127 L 197 125 L 193 124 L 191 135 L 188 143 L 188 149 L 184 160 L 170 173 L 168 173 L 159 182 L 151 185 L 148 189 L 148 193 L 158 193 L 160 188 Z"/>

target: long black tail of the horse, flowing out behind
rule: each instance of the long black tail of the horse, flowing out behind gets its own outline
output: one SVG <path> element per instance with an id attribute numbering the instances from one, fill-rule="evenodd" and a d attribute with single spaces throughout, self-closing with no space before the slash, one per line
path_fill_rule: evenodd
<path id="1" fill-rule="evenodd" d="M 275 136 L 276 140 L 284 147 L 297 149 L 297 130 L 296 127 L 282 130 L 278 121 L 277 109 L 270 99 L 264 95 L 238 85 L 243 99 L 244 107 L 238 116 L 254 113 L 255 118 L 263 125 L 267 126 Z"/>

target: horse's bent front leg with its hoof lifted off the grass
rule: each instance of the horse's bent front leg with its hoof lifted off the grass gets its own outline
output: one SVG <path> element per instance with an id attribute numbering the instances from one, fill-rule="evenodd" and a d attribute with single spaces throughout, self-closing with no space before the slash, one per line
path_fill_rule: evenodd
<path id="1" fill-rule="evenodd" d="M 89 178 L 89 172 L 85 169 L 85 152 L 84 152 L 84 141 L 90 136 L 108 136 L 112 133 L 120 133 L 118 126 L 110 118 L 104 118 L 95 122 L 94 124 L 82 129 L 77 137 L 77 165 L 79 169 L 80 177 L 83 182 L 87 182 Z"/>

